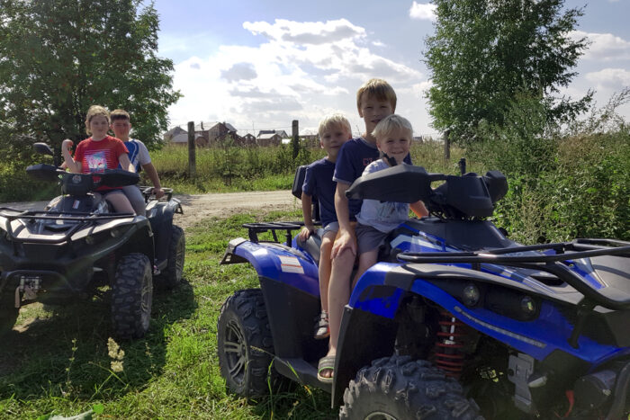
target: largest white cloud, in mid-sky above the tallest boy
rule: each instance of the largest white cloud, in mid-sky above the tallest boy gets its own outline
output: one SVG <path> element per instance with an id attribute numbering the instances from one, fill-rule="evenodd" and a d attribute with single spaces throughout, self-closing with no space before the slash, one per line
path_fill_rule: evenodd
<path id="1" fill-rule="evenodd" d="M 174 87 L 184 97 L 169 109 L 172 123 L 228 121 L 238 130 L 285 130 L 298 120 L 301 130 L 316 130 L 327 113 L 344 112 L 357 130 L 363 122 L 355 92 L 366 80 L 383 77 L 404 96 L 405 87 L 426 79 L 376 54 L 365 29 L 345 19 L 245 22 L 243 28 L 265 39 L 255 47 L 223 45 L 210 57 L 175 65 Z M 417 103 L 418 91 L 409 95 L 413 99 L 403 102 Z"/>

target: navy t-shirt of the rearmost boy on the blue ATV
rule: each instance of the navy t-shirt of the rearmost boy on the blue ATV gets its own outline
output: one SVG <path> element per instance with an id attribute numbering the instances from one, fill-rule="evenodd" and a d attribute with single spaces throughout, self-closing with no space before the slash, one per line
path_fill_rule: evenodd
<path id="1" fill-rule="evenodd" d="M 302 192 L 308 195 L 315 195 L 320 201 L 320 221 L 321 226 L 326 227 L 329 223 L 337 221 L 335 212 L 335 190 L 337 183 L 332 180 L 335 171 L 335 164 L 326 157 L 316 160 L 306 167 Z"/>

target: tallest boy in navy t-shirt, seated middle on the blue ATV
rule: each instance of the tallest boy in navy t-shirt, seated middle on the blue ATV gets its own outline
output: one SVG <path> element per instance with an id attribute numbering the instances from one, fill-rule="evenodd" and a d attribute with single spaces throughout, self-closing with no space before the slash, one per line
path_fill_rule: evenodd
<path id="1" fill-rule="evenodd" d="M 350 299 L 350 277 L 356 259 L 355 215 L 361 210 L 361 201 L 348 201 L 346 191 L 363 174 L 365 166 L 380 158 L 372 132 L 379 121 L 396 111 L 396 93 L 383 79 L 368 80 L 356 92 L 356 108 L 365 122 L 365 133 L 341 148 L 333 175 L 337 182 L 335 210 L 339 231 L 330 254 L 329 353 L 318 365 L 318 379 L 323 382 L 332 382 L 341 316 Z M 405 157 L 405 162 L 411 163 L 410 156 Z"/>

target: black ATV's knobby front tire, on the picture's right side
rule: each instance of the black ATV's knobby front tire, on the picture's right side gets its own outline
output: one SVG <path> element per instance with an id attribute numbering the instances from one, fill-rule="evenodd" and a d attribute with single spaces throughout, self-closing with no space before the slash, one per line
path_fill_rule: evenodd
<path id="1" fill-rule="evenodd" d="M 122 339 L 139 338 L 148 330 L 153 303 L 153 266 L 147 255 L 122 256 L 112 286 L 112 329 Z"/>

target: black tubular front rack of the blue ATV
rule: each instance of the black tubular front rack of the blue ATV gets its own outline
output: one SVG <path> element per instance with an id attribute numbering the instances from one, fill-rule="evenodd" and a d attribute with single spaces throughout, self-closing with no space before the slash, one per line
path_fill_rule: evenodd
<path id="1" fill-rule="evenodd" d="M 553 250 L 548 255 L 514 255 L 529 251 Z M 566 253 L 566 251 L 571 251 Z M 575 239 L 572 242 L 556 244 L 514 246 L 498 248 L 482 252 L 460 253 L 401 253 L 397 255 L 402 261 L 418 264 L 471 264 L 473 270 L 481 270 L 481 264 L 500 264 L 511 267 L 526 268 L 554 274 L 558 279 L 578 290 L 584 299 L 578 305 L 578 320 L 573 328 L 569 343 L 577 348 L 586 319 L 593 308 L 601 305 L 615 310 L 630 309 L 630 295 L 614 288 L 594 289 L 577 273 L 570 270 L 568 264 L 572 260 L 600 255 L 616 255 L 630 257 L 630 242 L 614 239 Z"/>

